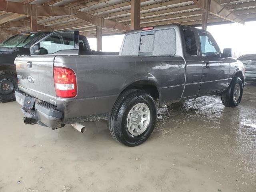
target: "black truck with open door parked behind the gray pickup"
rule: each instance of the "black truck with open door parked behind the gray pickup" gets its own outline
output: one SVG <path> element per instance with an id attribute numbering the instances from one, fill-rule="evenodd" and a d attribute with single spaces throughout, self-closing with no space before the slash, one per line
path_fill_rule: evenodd
<path id="1" fill-rule="evenodd" d="M 18 80 L 16 75 L 16 69 L 14 60 L 17 56 L 30 56 L 31 46 L 38 40 L 42 40 L 44 37 L 52 35 L 51 40 L 55 42 L 54 48 L 48 47 L 48 42 L 45 46 L 48 48 L 49 53 L 46 50 L 41 50 L 41 54 L 54 54 L 54 49 L 58 46 L 63 46 L 66 49 L 69 46 L 69 40 L 65 39 L 68 36 L 61 36 L 61 33 L 56 32 L 30 32 L 16 34 L 7 40 L 0 43 L 0 103 L 9 102 L 15 100 L 15 90 L 18 88 Z M 78 38 L 78 32 L 76 32 Z M 73 36 L 72 36 L 73 38 Z M 76 55 L 116 55 L 116 52 L 95 52 L 91 51 L 88 41 L 85 36 L 79 35 L 79 52 Z M 51 52 L 51 53 L 50 53 Z M 59 52 L 58 54 L 61 54 Z M 66 53 L 65 53 L 66 54 Z"/>

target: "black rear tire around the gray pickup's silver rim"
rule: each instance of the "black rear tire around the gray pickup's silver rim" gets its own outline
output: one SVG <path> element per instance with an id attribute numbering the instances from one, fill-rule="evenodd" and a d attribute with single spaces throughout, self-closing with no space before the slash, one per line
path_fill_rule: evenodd
<path id="1" fill-rule="evenodd" d="M 146 104 L 150 111 L 150 119 L 146 130 L 138 136 L 128 131 L 128 113 L 136 104 Z M 143 90 L 131 89 L 122 93 L 116 101 L 108 121 L 111 136 L 118 142 L 134 147 L 148 139 L 156 124 L 156 104 L 154 99 Z"/>

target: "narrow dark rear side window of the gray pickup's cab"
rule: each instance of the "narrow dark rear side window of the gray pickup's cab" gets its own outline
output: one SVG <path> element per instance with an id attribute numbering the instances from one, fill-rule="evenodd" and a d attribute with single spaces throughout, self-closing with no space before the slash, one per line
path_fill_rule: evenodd
<path id="1" fill-rule="evenodd" d="M 197 55 L 196 48 L 196 37 L 193 31 L 191 30 L 183 30 L 186 54 L 187 55 Z"/>

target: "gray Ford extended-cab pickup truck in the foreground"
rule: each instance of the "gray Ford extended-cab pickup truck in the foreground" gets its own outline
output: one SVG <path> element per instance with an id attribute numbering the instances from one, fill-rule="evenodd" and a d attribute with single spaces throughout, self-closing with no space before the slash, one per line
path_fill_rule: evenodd
<path id="1" fill-rule="evenodd" d="M 66 56 L 40 56 L 44 44 L 37 42 L 31 56 L 16 58 L 16 101 L 26 124 L 78 129 L 104 119 L 115 140 L 136 146 L 154 129 L 156 105 L 209 94 L 229 107 L 241 101 L 244 65 L 229 58 L 231 49 L 221 53 L 207 31 L 181 25 L 130 31 L 119 56 L 74 56 L 76 43 L 59 48 Z"/>

